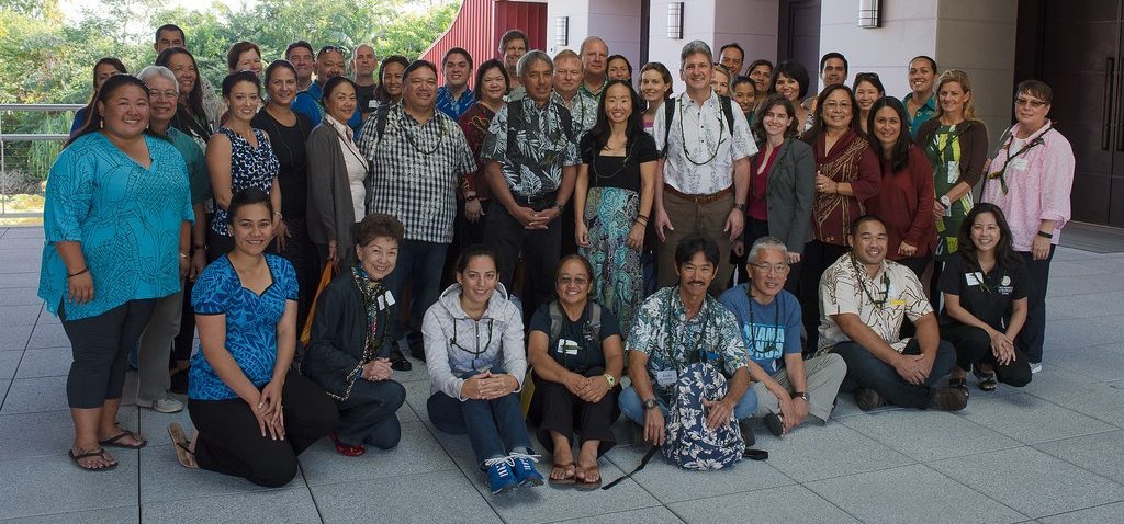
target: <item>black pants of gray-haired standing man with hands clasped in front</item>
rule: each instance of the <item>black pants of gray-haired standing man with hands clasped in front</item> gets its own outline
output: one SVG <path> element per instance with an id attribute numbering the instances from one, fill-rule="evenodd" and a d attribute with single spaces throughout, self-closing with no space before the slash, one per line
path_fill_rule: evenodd
<path id="1" fill-rule="evenodd" d="M 553 199 L 547 199 L 532 209 L 542 211 L 551 205 Z M 499 255 L 499 279 L 508 293 L 515 288 L 515 265 L 519 254 L 523 254 L 525 285 L 520 298 L 524 325 L 529 323 L 540 302 L 554 294 L 554 268 L 560 258 L 561 231 L 558 219 L 546 224 L 546 229 L 525 229 L 502 205 L 492 205 L 487 217 L 484 243 Z"/>

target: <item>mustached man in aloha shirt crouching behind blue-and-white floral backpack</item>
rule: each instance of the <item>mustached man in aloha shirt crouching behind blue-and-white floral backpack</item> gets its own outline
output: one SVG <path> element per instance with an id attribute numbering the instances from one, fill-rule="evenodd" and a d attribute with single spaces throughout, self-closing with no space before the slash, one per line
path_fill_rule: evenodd
<path id="1" fill-rule="evenodd" d="M 632 385 L 620 412 L 644 440 L 689 469 L 717 469 L 741 459 L 752 432 L 735 420 L 753 416 L 749 355 L 737 319 L 707 294 L 719 259 L 713 239 L 689 236 L 676 247 L 679 284 L 647 297 L 625 350 Z"/>

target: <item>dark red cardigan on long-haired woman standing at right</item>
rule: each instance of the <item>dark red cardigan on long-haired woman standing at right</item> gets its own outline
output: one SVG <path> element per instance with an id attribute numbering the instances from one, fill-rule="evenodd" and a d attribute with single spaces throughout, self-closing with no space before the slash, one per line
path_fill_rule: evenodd
<path id="1" fill-rule="evenodd" d="M 881 155 L 879 155 L 881 156 Z M 867 211 L 886 222 L 889 246 L 886 258 L 900 260 L 898 246 L 917 247 L 914 257 L 925 257 L 936 248 L 936 221 L 933 219 L 933 169 L 925 153 L 909 146 L 906 167 L 891 173 L 890 160 L 880 158 L 882 184 L 877 195 L 867 200 Z"/>

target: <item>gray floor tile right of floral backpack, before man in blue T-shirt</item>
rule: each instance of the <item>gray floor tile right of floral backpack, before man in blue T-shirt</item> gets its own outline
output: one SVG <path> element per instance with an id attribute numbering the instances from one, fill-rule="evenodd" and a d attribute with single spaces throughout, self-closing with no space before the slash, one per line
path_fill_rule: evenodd
<path id="1" fill-rule="evenodd" d="M 769 466 L 799 482 L 914 462 L 835 421 L 822 428 L 801 428 L 776 444 L 762 441 L 759 448 L 769 451 Z"/>

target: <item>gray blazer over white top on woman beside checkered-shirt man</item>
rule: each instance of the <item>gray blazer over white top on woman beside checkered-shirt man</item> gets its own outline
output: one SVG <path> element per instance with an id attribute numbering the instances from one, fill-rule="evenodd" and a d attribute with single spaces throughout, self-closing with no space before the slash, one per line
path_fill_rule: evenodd
<path id="1" fill-rule="evenodd" d="M 339 148 L 339 136 L 327 121 L 320 121 L 308 136 L 308 238 L 312 243 L 327 246 L 335 239 L 339 267 L 350 267 L 355 260 L 355 209 L 352 204 L 347 164 Z M 366 200 L 371 199 L 371 177 L 363 182 Z M 366 209 L 366 202 L 364 208 Z"/>

